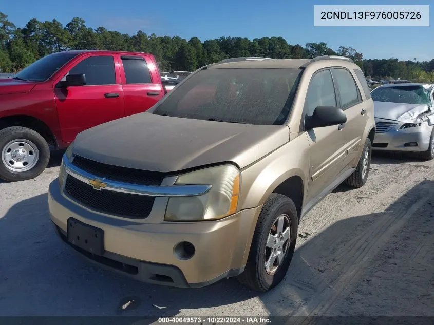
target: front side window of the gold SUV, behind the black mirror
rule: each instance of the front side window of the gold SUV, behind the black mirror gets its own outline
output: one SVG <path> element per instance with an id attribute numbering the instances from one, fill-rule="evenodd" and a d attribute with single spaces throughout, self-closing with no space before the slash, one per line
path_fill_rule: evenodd
<path id="1" fill-rule="evenodd" d="M 306 114 L 312 116 L 317 106 L 337 106 L 333 79 L 328 69 L 317 72 L 309 84 L 305 102 Z"/>

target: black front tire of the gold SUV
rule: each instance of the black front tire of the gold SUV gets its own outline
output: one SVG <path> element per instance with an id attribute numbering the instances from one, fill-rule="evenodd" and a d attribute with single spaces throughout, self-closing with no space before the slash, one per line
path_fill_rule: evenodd
<path id="1" fill-rule="evenodd" d="M 278 217 L 282 215 L 284 215 L 283 220 L 286 226 L 283 228 L 284 232 L 289 227 L 289 238 L 286 241 L 284 241 L 285 239 L 282 240 L 284 246 L 282 247 L 280 265 L 274 270 L 274 273 L 270 272 L 270 274 L 266 269 L 266 259 L 270 258 L 273 250 L 267 247 L 267 241 L 270 232 L 273 232 L 272 227 L 278 224 Z M 238 281 L 250 289 L 262 292 L 268 291 L 279 284 L 284 279 L 294 255 L 297 231 L 298 216 L 294 202 L 284 195 L 271 194 L 259 215 L 246 268 L 237 277 Z M 279 240 L 278 237 L 276 240 Z"/>

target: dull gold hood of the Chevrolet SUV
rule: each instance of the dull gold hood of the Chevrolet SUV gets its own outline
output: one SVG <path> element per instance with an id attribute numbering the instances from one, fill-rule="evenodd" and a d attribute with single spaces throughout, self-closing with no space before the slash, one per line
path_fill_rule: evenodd
<path id="1" fill-rule="evenodd" d="M 249 125 L 144 112 L 81 132 L 76 155 L 165 173 L 232 161 L 240 168 L 289 141 L 286 125 Z"/>

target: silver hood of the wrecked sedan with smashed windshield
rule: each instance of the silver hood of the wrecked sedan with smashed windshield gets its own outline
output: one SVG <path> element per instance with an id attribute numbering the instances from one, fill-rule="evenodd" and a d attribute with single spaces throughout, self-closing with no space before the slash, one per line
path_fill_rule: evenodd
<path id="1" fill-rule="evenodd" d="M 380 119 L 411 123 L 423 113 L 429 113 L 428 105 L 374 102 L 374 116 Z"/>

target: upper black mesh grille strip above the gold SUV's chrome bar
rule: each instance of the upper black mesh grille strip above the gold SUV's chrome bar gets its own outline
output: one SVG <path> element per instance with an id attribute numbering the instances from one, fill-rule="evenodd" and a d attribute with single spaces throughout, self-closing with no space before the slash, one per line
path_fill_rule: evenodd
<path id="1" fill-rule="evenodd" d="M 106 177 L 114 181 L 140 185 L 161 185 L 166 176 L 165 173 L 158 171 L 107 165 L 81 156 L 75 156 L 72 164 L 100 178 Z"/>

